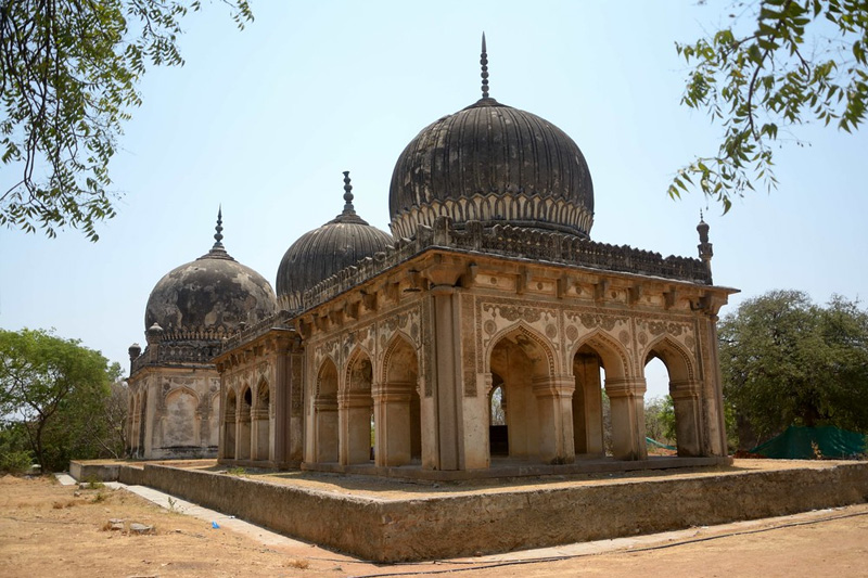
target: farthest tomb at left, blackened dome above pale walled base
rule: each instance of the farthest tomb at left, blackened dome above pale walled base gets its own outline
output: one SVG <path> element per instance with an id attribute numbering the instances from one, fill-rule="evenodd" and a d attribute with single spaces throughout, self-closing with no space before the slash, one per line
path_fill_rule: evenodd
<path id="1" fill-rule="evenodd" d="M 157 282 L 144 313 L 148 345 L 129 348 L 128 452 L 145 459 L 213 458 L 220 432 L 214 357 L 245 324 L 275 313 L 275 291 L 221 243 Z"/>

